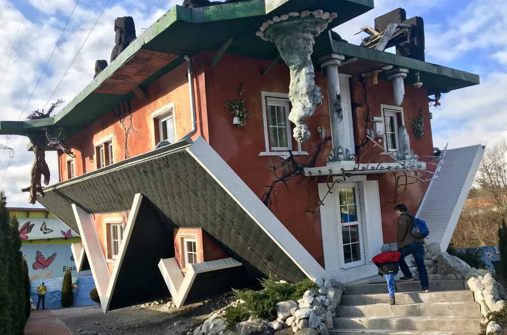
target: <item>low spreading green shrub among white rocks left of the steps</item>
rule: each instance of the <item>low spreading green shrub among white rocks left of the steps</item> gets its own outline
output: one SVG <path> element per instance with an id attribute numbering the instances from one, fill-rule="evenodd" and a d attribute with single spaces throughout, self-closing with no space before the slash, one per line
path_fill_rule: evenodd
<path id="1" fill-rule="evenodd" d="M 296 284 L 275 282 L 272 278 L 261 280 L 263 289 L 235 290 L 236 299 L 244 303 L 236 307 L 226 309 L 226 320 L 229 329 L 238 322 L 245 321 L 250 316 L 261 319 L 276 318 L 276 304 L 281 301 L 298 301 L 305 291 L 316 289 L 318 286 L 309 279 L 304 279 Z"/>

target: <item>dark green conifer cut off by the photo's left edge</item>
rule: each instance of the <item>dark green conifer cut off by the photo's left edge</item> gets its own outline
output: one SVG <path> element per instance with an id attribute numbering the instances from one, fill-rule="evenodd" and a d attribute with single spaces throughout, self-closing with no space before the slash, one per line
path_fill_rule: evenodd
<path id="1" fill-rule="evenodd" d="M 10 239 L 9 212 L 4 190 L 0 190 L 0 334 L 17 333 L 14 326 L 12 305 L 13 291 L 10 285 L 10 268 L 12 262 L 12 243 Z"/>

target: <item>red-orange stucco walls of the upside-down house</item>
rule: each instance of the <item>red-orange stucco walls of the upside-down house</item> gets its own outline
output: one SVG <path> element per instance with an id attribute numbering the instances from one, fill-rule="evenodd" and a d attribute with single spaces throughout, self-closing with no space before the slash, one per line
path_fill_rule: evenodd
<path id="1" fill-rule="evenodd" d="M 275 179 L 273 164 L 281 162 L 276 156 L 259 156 L 260 152 L 265 151 L 261 91 L 288 93 L 288 68 L 283 63 L 278 63 L 266 76 L 262 76 L 263 71 L 271 64 L 270 61 L 226 54 L 218 66 L 211 69 L 213 56 L 214 53 L 203 52 L 194 57 L 198 133 L 193 138 L 203 136 L 261 198 L 266 186 Z M 238 98 L 237 90 L 240 83 L 244 87 L 243 97 L 249 110 L 249 117 L 246 126 L 238 129 L 232 124 L 233 116 L 224 109 L 223 105 L 226 101 Z M 303 144 L 302 150 L 310 155 L 297 156 L 298 161 L 303 164 L 308 163 L 320 142 L 317 127 L 323 126 L 327 134 L 331 133 L 326 79 L 319 69 L 316 69 L 316 83 L 321 88 L 324 99 L 322 105 L 307 121 L 312 136 Z M 363 87 L 358 77 L 352 77 L 350 83 L 354 134 L 356 144 L 358 144 L 364 138 L 366 104 L 363 101 Z M 132 122 L 135 129 L 135 132 L 131 132 L 128 142 L 131 157 L 153 149 L 151 114 L 168 103 L 175 104 L 178 138 L 191 129 L 186 64 L 182 64 L 153 82 L 147 89 L 147 95 L 149 97 L 147 102 L 141 103 L 136 98 L 131 99 L 134 111 Z M 372 115 L 380 116 L 380 104 L 394 104 L 392 83 L 381 81 L 377 87 L 368 88 L 367 96 Z M 416 90 L 407 86 L 402 107 L 411 147 L 420 156 L 430 155 L 433 145 L 426 91 L 423 88 Z M 426 135 L 422 139 L 415 139 L 411 125 L 420 109 L 425 119 Z M 113 112 L 93 122 L 70 139 L 68 144 L 76 153 L 76 176 L 95 170 L 93 143 L 109 134 L 114 134 L 115 138 L 115 161 L 124 159 L 125 133 Z M 297 143 L 293 142 L 293 146 L 297 147 Z M 316 166 L 325 165 L 325 158 L 331 147 L 331 142 L 327 142 L 322 147 Z M 362 148 L 360 152 L 364 153 L 368 147 L 367 145 Z M 376 155 L 378 152 L 378 149 L 371 150 L 369 155 L 361 157 L 361 162 L 368 161 L 371 155 Z M 60 179 L 66 179 L 65 157 L 61 156 L 59 160 Z M 396 227 L 392 211 L 394 176 L 392 173 L 385 173 L 369 175 L 368 179 L 379 181 L 384 241 L 393 242 Z M 324 179 L 319 180 L 319 182 L 324 181 Z M 413 212 L 416 212 L 426 187 L 427 184 L 420 182 L 409 186 L 407 192 L 398 197 L 398 202 L 406 203 Z M 315 179 L 308 179 L 301 175 L 295 176 L 287 182 L 286 187 L 279 184 L 276 191 L 271 210 L 308 252 L 323 265 L 320 215 L 314 207 L 319 200 Z M 97 229 L 100 228 L 97 227 Z M 211 242 L 206 242 L 204 237 L 203 244 L 213 246 Z M 203 247 L 206 249 L 206 246 Z M 221 254 L 220 250 L 210 251 L 213 255 L 215 252 Z M 208 260 L 206 255 L 203 257 Z"/>

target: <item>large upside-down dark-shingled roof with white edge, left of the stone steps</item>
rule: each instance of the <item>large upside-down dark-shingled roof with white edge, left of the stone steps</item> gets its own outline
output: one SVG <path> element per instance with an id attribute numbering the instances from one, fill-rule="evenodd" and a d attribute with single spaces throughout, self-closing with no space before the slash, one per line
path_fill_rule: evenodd
<path id="1" fill-rule="evenodd" d="M 104 297 L 108 309 L 168 294 L 158 263 L 174 257 L 173 227 L 202 228 L 242 264 L 238 269 L 196 276 L 195 282 L 214 277 L 241 278 L 247 284 L 270 275 L 291 282 L 305 277 L 320 281 L 325 277 L 317 261 L 202 138 L 132 157 L 44 191 L 45 196 L 38 200 L 79 230 L 94 280 L 102 286 L 101 290 L 97 288 L 99 296 Z M 129 236 L 124 238 L 128 240 L 125 249 L 123 242 L 120 248 L 125 256 L 117 259 L 117 273 L 110 276 L 90 215 L 127 210 L 131 232 L 124 235 Z M 230 276 L 230 271 L 239 272 Z M 147 273 L 150 276 L 144 275 Z M 117 282 L 110 284 L 114 278 Z M 239 285 L 233 279 L 226 283 L 229 288 Z M 129 285 L 146 285 L 152 291 L 138 296 L 129 293 L 130 298 L 122 293 L 117 296 L 115 292 L 125 291 Z M 209 294 L 211 286 L 190 290 L 186 300 Z"/>

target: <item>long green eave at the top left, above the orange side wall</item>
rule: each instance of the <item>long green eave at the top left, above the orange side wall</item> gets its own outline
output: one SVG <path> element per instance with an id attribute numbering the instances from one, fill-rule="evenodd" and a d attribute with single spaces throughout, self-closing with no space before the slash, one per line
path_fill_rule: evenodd
<path id="1" fill-rule="evenodd" d="M 323 9 L 339 13 L 329 28 L 335 27 L 373 9 L 373 0 L 249 0 L 214 5 L 198 9 L 174 6 L 139 35 L 89 85 L 54 116 L 54 125 L 64 127 L 73 136 L 91 122 L 114 109 L 132 93 L 113 95 L 94 93 L 101 84 L 141 49 L 171 54 L 195 54 L 203 50 L 218 50 L 228 38 L 234 42 L 228 53 L 273 59 L 278 55 L 274 44 L 255 35 L 264 21 L 275 15 L 294 11 Z M 177 57 L 169 65 L 140 83 L 146 87 L 163 74 L 184 62 Z M 14 128 L 12 128 L 12 127 Z M 11 128 L 9 128 L 11 127 Z M 18 126 L 9 125 L 7 129 Z M 3 127 L 0 127 L 0 134 Z M 11 133 L 14 134 L 14 133 Z M 16 135 L 26 135 L 25 132 Z"/>

